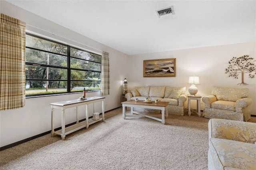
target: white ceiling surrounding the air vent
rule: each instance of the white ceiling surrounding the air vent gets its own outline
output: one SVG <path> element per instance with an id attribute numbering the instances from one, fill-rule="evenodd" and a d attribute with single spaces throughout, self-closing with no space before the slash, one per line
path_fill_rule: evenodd
<path id="1" fill-rule="evenodd" d="M 6 1 L 127 55 L 256 41 L 255 0 Z"/>

